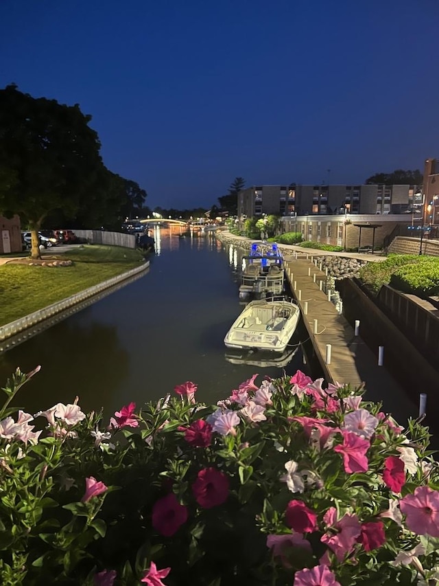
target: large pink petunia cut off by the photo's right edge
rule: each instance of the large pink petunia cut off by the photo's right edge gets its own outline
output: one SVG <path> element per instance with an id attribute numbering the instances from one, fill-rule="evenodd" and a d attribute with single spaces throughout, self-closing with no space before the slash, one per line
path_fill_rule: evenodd
<path id="1" fill-rule="evenodd" d="M 406 515 L 405 524 L 417 535 L 439 537 L 439 492 L 429 486 L 418 486 L 412 495 L 399 501 Z"/>

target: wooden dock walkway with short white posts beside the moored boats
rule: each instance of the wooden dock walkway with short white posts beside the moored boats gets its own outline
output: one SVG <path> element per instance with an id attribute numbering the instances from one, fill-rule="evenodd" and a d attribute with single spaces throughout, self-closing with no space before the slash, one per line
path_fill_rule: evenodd
<path id="1" fill-rule="evenodd" d="M 318 255 L 313 255 L 313 259 L 318 259 Z M 359 335 L 355 336 L 353 327 L 340 315 L 333 302 L 328 300 L 327 293 L 320 290 L 319 282 L 326 282 L 327 276 L 311 261 L 311 254 L 300 253 L 298 258 L 295 258 L 294 253 L 286 254 L 285 275 L 292 295 L 300 306 L 303 322 L 326 381 L 351 383 L 353 387 L 364 383 L 366 399 L 383 401 L 385 409 L 400 420 L 408 416 L 416 418 L 416 405 L 407 398 L 388 370 L 378 365 L 378 348 L 377 354 L 374 354 L 362 341 L 361 324 Z M 328 345 L 331 346 L 329 363 Z"/>

